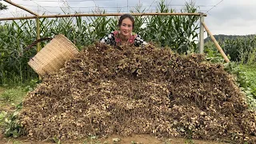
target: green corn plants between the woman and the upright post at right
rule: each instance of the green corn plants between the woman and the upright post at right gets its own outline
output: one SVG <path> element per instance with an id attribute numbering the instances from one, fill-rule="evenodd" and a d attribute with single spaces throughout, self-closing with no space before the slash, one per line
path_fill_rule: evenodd
<path id="1" fill-rule="evenodd" d="M 158 12 L 173 13 L 164 2 L 158 4 Z M 196 13 L 194 3 L 186 3 L 185 12 Z M 146 28 L 138 30 L 146 41 L 153 41 L 160 46 L 169 46 L 180 54 L 191 53 L 197 49 L 198 16 L 164 16 L 154 15 L 146 17 Z M 138 21 L 139 22 L 139 21 Z"/>

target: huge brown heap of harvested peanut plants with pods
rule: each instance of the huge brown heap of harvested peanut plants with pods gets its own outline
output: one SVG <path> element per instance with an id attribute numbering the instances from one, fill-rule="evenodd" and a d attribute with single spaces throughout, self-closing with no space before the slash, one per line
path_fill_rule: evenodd
<path id="1" fill-rule="evenodd" d="M 256 112 L 222 64 L 155 46 L 86 47 L 30 92 L 31 138 L 151 134 L 255 143 Z"/>

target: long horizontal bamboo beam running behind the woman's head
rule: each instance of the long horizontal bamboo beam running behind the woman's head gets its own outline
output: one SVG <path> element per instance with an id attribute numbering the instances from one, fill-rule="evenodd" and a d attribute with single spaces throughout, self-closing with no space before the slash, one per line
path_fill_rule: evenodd
<path id="1" fill-rule="evenodd" d="M 94 16 L 121 16 L 122 14 L 56 14 L 56 15 L 38 15 L 38 16 L 30 16 L 30 17 L 17 17 L 17 18 L 0 18 L 0 21 L 6 20 L 17 20 L 17 19 L 32 19 L 32 18 L 63 18 L 63 17 L 94 17 Z M 134 16 L 142 16 L 142 15 L 195 15 L 200 16 L 200 13 L 133 13 L 131 15 Z M 206 14 L 203 14 L 206 16 Z"/>

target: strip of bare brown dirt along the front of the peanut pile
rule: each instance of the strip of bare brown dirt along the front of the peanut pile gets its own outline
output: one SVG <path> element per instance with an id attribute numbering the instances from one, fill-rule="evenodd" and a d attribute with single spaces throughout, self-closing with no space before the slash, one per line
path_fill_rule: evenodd
<path id="1" fill-rule="evenodd" d="M 11 143 L 42 143 L 42 144 L 51 144 L 58 142 L 40 142 L 40 141 L 30 141 L 27 138 L 1 138 L 0 135 L 0 144 L 11 144 Z M 223 142 L 211 142 L 203 140 L 191 140 L 186 138 L 166 138 L 159 139 L 151 135 L 134 135 L 130 137 L 122 137 L 118 135 L 111 135 L 108 138 L 87 138 L 81 140 L 67 140 L 61 141 L 62 144 L 225 144 Z"/>

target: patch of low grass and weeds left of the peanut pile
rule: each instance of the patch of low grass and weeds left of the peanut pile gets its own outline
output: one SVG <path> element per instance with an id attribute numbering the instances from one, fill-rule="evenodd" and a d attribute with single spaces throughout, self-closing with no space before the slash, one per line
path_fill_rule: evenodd
<path id="1" fill-rule="evenodd" d="M 0 87 L 0 131 L 6 137 L 17 138 L 23 134 L 22 126 L 18 120 L 19 110 L 22 109 L 22 99 L 33 90 L 38 79 L 30 82 Z"/>

